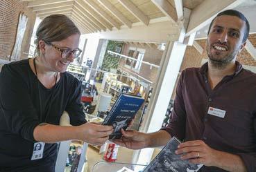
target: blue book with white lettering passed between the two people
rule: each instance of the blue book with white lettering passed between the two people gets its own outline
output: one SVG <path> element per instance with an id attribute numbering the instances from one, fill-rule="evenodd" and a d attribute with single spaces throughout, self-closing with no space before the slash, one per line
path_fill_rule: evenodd
<path id="1" fill-rule="evenodd" d="M 144 99 L 136 95 L 126 95 L 123 93 L 119 95 L 110 113 L 108 113 L 102 123 L 103 125 L 112 125 L 114 128 L 113 133 L 110 135 L 110 140 L 121 138 L 121 128 L 126 130 L 143 102 Z"/>

